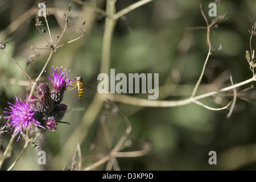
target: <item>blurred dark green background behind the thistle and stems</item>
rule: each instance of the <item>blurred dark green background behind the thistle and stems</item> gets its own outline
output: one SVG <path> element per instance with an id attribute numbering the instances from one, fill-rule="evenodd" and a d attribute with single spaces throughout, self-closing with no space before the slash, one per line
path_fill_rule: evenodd
<path id="1" fill-rule="evenodd" d="M 70 1 L 46 1 L 51 16 L 48 16 L 49 27 L 53 38 L 60 34 L 64 27 L 64 15 Z M 95 5 L 96 1 L 85 1 Z M 137 2 L 134 0 L 117 0 L 117 11 Z M 190 96 L 193 86 L 201 73 L 208 46 L 206 30 L 188 30 L 188 27 L 205 26 L 199 5 L 208 16 L 208 5 L 214 1 L 197 0 L 157 0 L 130 12 L 117 21 L 112 42 L 110 68 L 115 73 L 159 73 L 159 85 L 171 84 L 170 93 L 165 100 L 179 100 Z M 0 28 L 9 26 L 20 15 L 38 1 L 0 1 Z M 51 67 L 71 70 L 71 77 L 81 75 L 86 85 L 91 88 L 82 100 L 77 101 L 77 92 L 67 91 L 63 103 L 68 105 L 68 112 L 63 121 L 71 126 L 59 125 L 54 132 L 48 131 L 38 141 L 41 150 L 46 151 L 47 164 L 38 165 L 37 150 L 28 147 L 14 170 L 56 170 L 64 169 L 71 164 L 72 155 L 55 160 L 63 150 L 65 142 L 76 127 L 81 125 L 82 118 L 97 92 L 97 76 L 100 72 L 102 37 L 105 18 L 95 14 L 92 9 L 71 2 L 73 21 L 61 42 L 67 42 L 81 34 L 78 30 L 82 20 L 86 20 L 86 33 L 81 39 L 61 47 L 52 57 L 47 71 Z M 105 9 L 105 1 L 97 1 Z M 251 27 L 256 18 L 256 1 L 223 1 L 217 5 L 217 15 L 228 13 L 227 18 L 218 23 L 210 35 L 214 50 L 210 56 L 207 70 L 199 88 L 199 93 L 206 93 L 230 85 L 229 76 L 234 82 L 241 82 L 251 77 L 245 51 L 249 50 Z M 43 22 L 44 26 L 46 25 Z M 15 38 L 7 43 L 6 52 L 14 57 L 23 68 L 28 56 L 38 55 L 28 64 L 28 74 L 35 78 L 41 71 L 49 51 L 35 49 L 31 46 L 45 47 L 46 41 L 35 28 L 35 16 L 27 18 L 22 25 L 9 35 L 2 31 L 2 41 Z M 223 48 L 218 51 L 220 43 Z M 255 41 L 253 40 L 253 47 Z M 7 101 L 14 102 L 18 94 L 25 98 L 29 93 L 26 76 L 11 60 L 0 52 L 0 113 L 8 106 Z M 220 77 L 219 77 L 220 76 Z M 24 82 L 20 82 L 20 80 Z M 50 82 L 45 76 L 41 81 Z M 214 83 L 214 84 L 211 84 Z M 178 84 L 178 85 L 177 85 Z M 210 85 L 206 85 L 210 84 Z M 250 85 L 243 86 L 247 88 Z M 238 89 L 241 90 L 241 89 Z M 168 90 L 167 90 L 168 91 Z M 232 92 L 230 92 L 232 93 Z M 160 96 L 161 96 L 160 92 Z M 146 97 L 146 96 L 145 96 Z M 119 167 L 123 170 L 207 170 L 207 169 L 256 169 L 256 93 L 251 89 L 238 98 L 233 114 L 226 117 L 228 110 L 212 111 L 195 104 L 170 108 L 137 107 L 118 104 L 133 126 L 129 135 L 131 146 L 123 151 L 141 150 L 145 143 L 151 143 L 148 155 L 139 158 L 118 158 Z M 202 100 L 207 105 L 220 107 L 232 100 L 232 96 L 211 97 Z M 244 100 L 247 100 L 244 101 Z M 250 101 L 250 102 L 248 102 Z M 108 111 L 102 107 L 96 120 L 89 125 L 88 134 L 81 143 L 82 167 L 89 166 L 102 156 L 108 154 L 108 147 L 102 131 L 100 117 Z M 115 144 L 125 131 L 121 117 L 109 114 L 107 125 L 112 142 Z M 5 115 L 5 114 L 3 114 Z M 1 119 L 3 124 L 5 119 Z M 86 123 L 86 121 L 84 121 Z M 85 126 L 85 125 L 82 125 Z M 10 134 L 3 134 L 2 146 L 6 147 Z M 7 159 L 2 169 L 7 169 L 22 150 L 24 140 L 13 144 L 12 157 Z M 75 152 L 74 147 L 69 153 Z M 208 152 L 217 152 L 217 165 L 209 165 Z M 53 163 L 55 162 L 55 163 Z M 64 164 L 64 165 L 63 165 Z M 105 164 L 97 169 L 105 169 Z"/>

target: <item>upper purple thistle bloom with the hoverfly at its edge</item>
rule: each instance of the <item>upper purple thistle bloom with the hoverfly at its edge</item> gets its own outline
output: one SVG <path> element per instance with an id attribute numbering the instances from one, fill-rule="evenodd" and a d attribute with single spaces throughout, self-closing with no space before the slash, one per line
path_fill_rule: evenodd
<path id="1" fill-rule="evenodd" d="M 65 73 L 66 73 L 66 69 L 64 69 L 64 72 L 62 72 L 62 67 L 60 67 L 60 71 L 58 72 L 58 68 L 54 69 L 53 66 L 52 66 L 52 75 L 47 75 L 46 73 L 47 77 L 52 82 L 54 89 L 65 90 L 69 84 L 75 81 L 75 78 L 73 78 L 72 80 L 68 79 L 70 71 L 68 71 L 67 75 Z"/>

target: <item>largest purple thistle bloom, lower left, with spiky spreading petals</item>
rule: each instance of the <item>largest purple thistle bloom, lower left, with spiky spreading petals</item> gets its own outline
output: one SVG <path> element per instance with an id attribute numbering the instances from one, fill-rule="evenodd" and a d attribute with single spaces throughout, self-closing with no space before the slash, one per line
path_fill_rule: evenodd
<path id="1" fill-rule="evenodd" d="M 28 96 L 27 101 L 22 101 L 17 96 L 15 96 L 14 99 L 16 103 L 13 105 L 8 102 L 8 104 L 10 104 L 10 109 L 5 108 L 8 111 L 4 111 L 4 113 L 9 113 L 11 115 L 3 117 L 5 119 L 10 119 L 10 122 L 6 125 L 12 127 L 11 129 L 14 130 L 13 135 L 17 135 L 18 133 L 21 134 L 26 129 L 33 129 L 33 127 L 44 128 L 40 125 L 40 122 L 36 121 L 34 118 L 36 111 L 34 110 L 31 102 L 28 101 Z"/>

